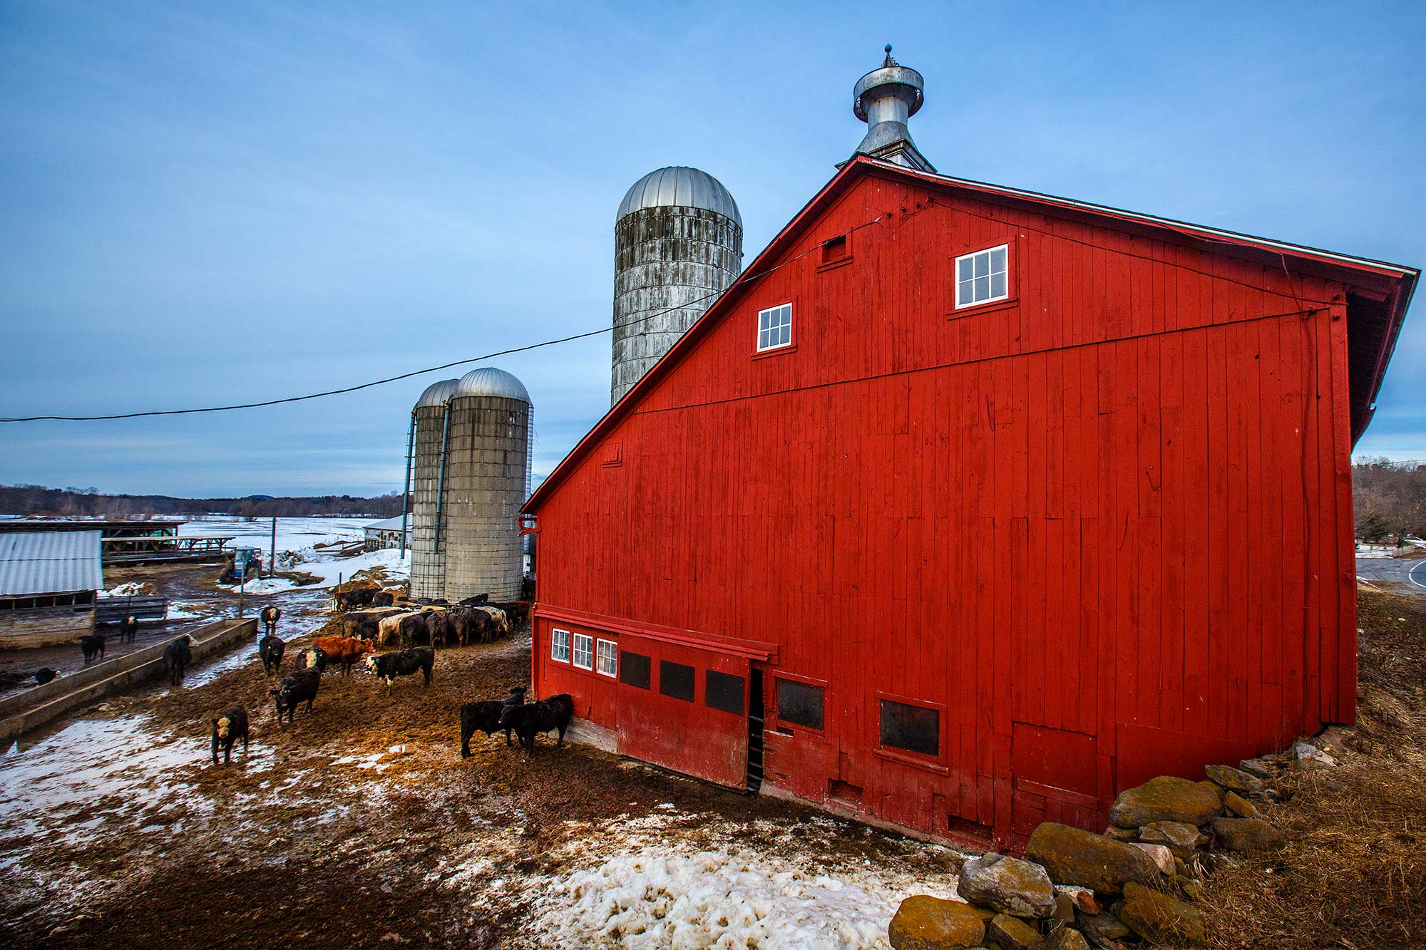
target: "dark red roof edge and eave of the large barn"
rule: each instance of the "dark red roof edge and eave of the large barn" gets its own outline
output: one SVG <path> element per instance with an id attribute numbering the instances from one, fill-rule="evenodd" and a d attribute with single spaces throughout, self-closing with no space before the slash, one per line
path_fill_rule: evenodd
<path id="1" fill-rule="evenodd" d="M 968 178 L 955 178 L 931 171 L 918 171 L 890 161 L 878 161 L 856 155 L 829 181 L 797 215 L 779 231 L 763 252 L 749 264 L 739 278 L 719 297 L 676 344 L 639 379 L 609 412 L 595 424 L 569 455 L 555 466 L 522 511 L 535 512 L 558 486 L 575 471 L 579 462 L 595 449 L 619 422 L 633 411 L 643 395 L 676 367 L 684 354 L 692 351 L 719 324 L 739 300 L 817 218 L 857 181 L 867 175 L 920 181 L 940 191 L 978 197 L 984 201 L 1028 208 L 1040 214 L 1054 214 L 1071 220 L 1084 220 L 1099 227 L 1144 234 L 1158 240 L 1172 240 L 1204 251 L 1239 257 L 1259 264 L 1282 267 L 1313 277 L 1335 280 L 1353 288 L 1348 294 L 1348 361 L 1350 379 L 1352 442 L 1360 438 L 1376 408 L 1386 375 L 1386 364 L 1396 347 L 1406 308 L 1416 290 L 1420 270 L 1400 264 L 1389 264 L 1365 257 L 1338 254 L 1320 248 L 1288 244 L 1271 238 L 1238 234 L 1172 218 L 1161 218 L 1138 211 L 1125 211 L 1102 204 L 1061 198 L 1057 195 L 1008 188 Z"/>

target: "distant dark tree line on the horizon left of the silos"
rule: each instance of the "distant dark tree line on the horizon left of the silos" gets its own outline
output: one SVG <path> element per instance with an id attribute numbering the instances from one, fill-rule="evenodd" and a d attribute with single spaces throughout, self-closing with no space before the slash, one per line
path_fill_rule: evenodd
<path id="1" fill-rule="evenodd" d="M 6 515 L 235 515 L 240 518 L 302 518 L 312 515 L 371 515 L 395 518 L 401 514 L 401 492 L 376 498 L 356 495 L 312 495 L 305 498 L 173 498 L 170 495 L 103 495 L 97 488 L 47 488 L 44 485 L 0 485 L 0 514 Z"/>

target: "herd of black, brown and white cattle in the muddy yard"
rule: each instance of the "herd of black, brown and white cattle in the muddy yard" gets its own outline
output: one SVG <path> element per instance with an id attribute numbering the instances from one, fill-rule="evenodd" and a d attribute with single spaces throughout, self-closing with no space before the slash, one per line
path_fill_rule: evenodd
<path id="1" fill-rule="evenodd" d="M 394 599 L 391 592 L 372 589 L 334 595 L 332 606 L 341 612 L 342 635 L 314 638 L 309 646 L 292 658 L 292 673 L 284 676 L 277 689 L 268 690 L 278 723 L 284 716 L 291 723 L 301 705 L 312 712 L 322 673 L 328 669 L 339 666 L 342 676 L 347 676 L 354 665 L 361 663 L 362 669 L 384 680 L 388 690 L 396 679 L 419 672 L 424 686 L 429 686 L 436 646 L 492 640 L 529 619 L 529 605 L 525 602 L 489 603 L 481 596 L 455 605 L 436 602 L 404 608 L 395 606 Z M 277 636 L 277 625 L 282 611 L 270 606 L 260 618 L 264 625 L 264 635 L 258 640 L 262 670 L 268 675 L 281 673 L 287 645 Z M 398 649 L 378 653 L 378 646 Z M 511 745 L 511 733 L 515 733 L 520 746 L 532 752 L 539 733 L 559 732 L 556 745 L 562 746 L 573 715 L 575 703 L 568 693 L 526 703 L 523 688 L 512 689 L 505 699 L 465 703 L 461 706 L 461 756 L 471 755 L 471 737 L 478 730 L 486 737 L 503 730 L 506 745 Z M 222 760 L 231 762 L 232 746 L 238 739 L 242 740 L 244 752 L 247 750 L 245 709 L 228 709 L 211 725 L 214 763 L 218 762 L 220 750 Z"/>

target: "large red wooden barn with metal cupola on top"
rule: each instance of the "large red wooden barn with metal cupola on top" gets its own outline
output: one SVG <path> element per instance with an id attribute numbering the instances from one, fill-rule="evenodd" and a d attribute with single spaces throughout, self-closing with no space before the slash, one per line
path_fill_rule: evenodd
<path id="1" fill-rule="evenodd" d="M 937 174 L 920 87 L 857 84 L 853 158 L 530 496 L 535 692 L 997 846 L 1352 722 L 1350 451 L 1419 272 Z"/>

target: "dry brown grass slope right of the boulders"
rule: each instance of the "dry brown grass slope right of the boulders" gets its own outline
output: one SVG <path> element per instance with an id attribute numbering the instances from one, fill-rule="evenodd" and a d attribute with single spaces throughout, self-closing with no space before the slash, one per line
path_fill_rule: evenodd
<path id="1" fill-rule="evenodd" d="M 1289 844 L 1221 862 L 1214 947 L 1426 947 L 1426 598 L 1358 596 L 1358 726 L 1340 767 L 1263 809 Z"/>

